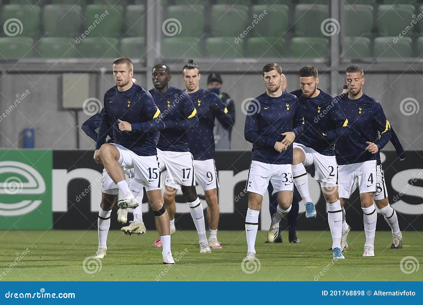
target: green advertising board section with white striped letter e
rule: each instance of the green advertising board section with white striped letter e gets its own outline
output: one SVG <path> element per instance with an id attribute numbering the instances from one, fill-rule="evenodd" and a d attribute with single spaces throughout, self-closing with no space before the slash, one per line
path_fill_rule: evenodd
<path id="1" fill-rule="evenodd" d="M 0 229 L 52 229 L 52 150 L 0 150 Z"/>

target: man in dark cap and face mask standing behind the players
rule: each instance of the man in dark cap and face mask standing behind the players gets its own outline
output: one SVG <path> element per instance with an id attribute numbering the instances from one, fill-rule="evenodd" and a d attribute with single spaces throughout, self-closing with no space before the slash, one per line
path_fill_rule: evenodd
<path id="1" fill-rule="evenodd" d="M 235 124 L 235 104 L 228 95 L 228 93 L 222 93 L 222 78 L 219 73 L 211 72 L 207 77 L 207 89 L 213 93 L 219 95 L 220 99 L 228 109 L 228 113 L 231 114 L 233 123 L 231 127 L 225 128 L 219 121 L 215 122 L 214 126 L 214 142 L 217 150 L 230 149 L 231 148 L 231 132 L 233 124 Z"/>

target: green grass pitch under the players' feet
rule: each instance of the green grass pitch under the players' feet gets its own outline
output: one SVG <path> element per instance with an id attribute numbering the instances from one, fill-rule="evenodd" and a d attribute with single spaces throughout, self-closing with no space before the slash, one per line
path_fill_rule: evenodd
<path id="1" fill-rule="evenodd" d="M 0 231 L 0 280 L 423 280 L 423 268 L 410 274 L 400 269 L 405 256 L 423 261 L 423 232 L 403 232 L 404 247 L 391 250 L 391 233 L 376 231 L 376 256 L 362 257 L 364 232 L 351 231 L 346 259 L 336 262 L 328 251 L 329 231 L 298 231 L 300 244 L 288 243 L 287 232 L 281 244 L 264 243 L 266 234 L 257 235 L 260 268 L 250 265 L 251 271 L 258 270 L 248 274 L 241 266 L 247 250 L 244 231 L 219 231 L 223 249 L 207 254 L 199 253 L 195 231 L 176 232 L 173 267 L 162 264 L 162 250 L 153 245 L 156 231 L 142 236 L 110 231 L 107 257 L 90 274 L 82 264 L 96 252 L 97 231 Z M 96 269 L 91 267 L 89 272 Z"/>

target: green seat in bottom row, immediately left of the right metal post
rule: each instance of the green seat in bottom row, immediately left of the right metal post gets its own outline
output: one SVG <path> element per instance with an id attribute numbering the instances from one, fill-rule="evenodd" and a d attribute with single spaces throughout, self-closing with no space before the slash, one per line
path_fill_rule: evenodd
<path id="1" fill-rule="evenodd" d="M 295 37 L 291 39 L 291 57 L 326 58 L 329 57 L 329 41 L 327 38 Z"/>

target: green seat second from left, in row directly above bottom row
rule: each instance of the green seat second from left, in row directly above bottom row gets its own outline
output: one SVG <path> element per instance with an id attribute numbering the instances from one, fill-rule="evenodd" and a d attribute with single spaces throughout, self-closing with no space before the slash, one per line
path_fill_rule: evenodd
<path id="1" fill-rule="evenodd" d="M 77 37 L 81 26 L 81 10 L 79 5 L 44 6 L 44 34 L 49 37 Z"/>

